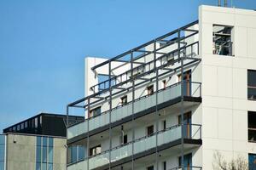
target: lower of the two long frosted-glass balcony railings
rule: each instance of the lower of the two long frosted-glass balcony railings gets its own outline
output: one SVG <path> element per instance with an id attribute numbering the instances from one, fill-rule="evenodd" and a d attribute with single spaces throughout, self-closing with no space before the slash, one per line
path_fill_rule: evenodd
<path id="1" fill-rule="evenodd" d="M 182 127 L 183 129 L 188 128 L 188 124 L 176 125 L 173 127 L 168 127 L 165 130 L 154 133 L 150 136 L 144 136 L 143 138 L 136 139 L 133 142 L 120 145 L 113 148 L 112 150 L 106 150 L 96 156 L 89 157 L 89 169 L 94 169 L 96 167 L 102 167 L 107 165 L 110 161 L 119 161 L 125 157 L 132 156 L 132 144 L 134 144 L 134 155 L 143 153 L 150 149 L 154 149 L 156 146 L 162 144 L 171 143 L 177 139 L 182 138 Z M 189 124 L 191 133 L 183 133 L 184 139 L 201 139 L 201 125 Z M 158 144 L 156 144 L 156 138 L 158 139 Z M 109 154 L 111 153 L 111 156 Z M 110 160 L 109 160 L 110 158 Z M 73 163 L 68 166 L 68 170 L 79 169 L 79 166 L 87 167 L 88 160 L 79 161 L 79 163 Z M 85 168 L 86 169 L 86 168 Z"/>

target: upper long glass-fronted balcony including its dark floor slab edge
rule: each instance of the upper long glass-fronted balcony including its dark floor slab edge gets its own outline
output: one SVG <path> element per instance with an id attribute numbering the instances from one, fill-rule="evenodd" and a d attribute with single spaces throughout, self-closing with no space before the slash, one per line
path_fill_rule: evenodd
<path id="1" fill-rule="evenodd" d="M 183 94 L 184 101 L 190 103 L 201 102 L 201 82 L 184 82 Z M 177 82 L 167 88 L 160 89 L 152 95 L 146 95 L 134 100 L 134 116 L 135 119 L 139 116 L 147 115 L 155 110 L 156 95 L 158 95 L 158 108 L 164 108 L 169 105 L 177 104 L 181 100 L 181 82 Z M 67 128 L 67 139 L 73 139 L 90 131 L 104 131 L 108 129 L 109 114 L 111 114 L 111 123 L 113 126 L 118 126 L 123 122 L 131 121 L 132 116 L 132 101 L 126 105 L 113 108 L 111 111 L 105 111 L 99 116 L 90 117 L 72 127 Z M 89 126 L 88 126 L 89 123 Z M 88 130 L 89 127 L 89 130 Z M 105 129 L 104 129 L 105 127 Z M 93 132 L 92 132 L 93 133 Z M 86 136 L 84 136 L 86 137 Z M 70 141 L 68 141 L 70 143 Z"/>

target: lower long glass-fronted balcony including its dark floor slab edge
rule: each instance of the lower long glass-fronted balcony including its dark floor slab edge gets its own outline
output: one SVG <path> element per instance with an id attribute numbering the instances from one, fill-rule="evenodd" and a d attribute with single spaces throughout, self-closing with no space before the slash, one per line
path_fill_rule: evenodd
<path id="1" fill-rule="evenodd" d="M 188 129 L 190 130 L 188 131 Z M 106 150 L 96 156 L 90 156 L 89 159 L 70 164 L 67 169 L 87 169 L 87 167 L 89 169 L 105 169 L 108 168 L 109 162 L 111 162 L 112 167 L 117 167 L 122 165 L 123 162 L 131 161 L 132 155 L 135 159 L 139 159 L 154 154 L 156 147 L 159 151 L 167 150 L 168 153 L 173 153 L 181 148 L 182 133 L 185 150 L 201 145 L 201 125 L 176 125 L 154 133 L 151 136 L 145 136 L 130 143 L 120 145 L 112 150 Z M 134 147 L 133 153 L 132 145 Z"/>

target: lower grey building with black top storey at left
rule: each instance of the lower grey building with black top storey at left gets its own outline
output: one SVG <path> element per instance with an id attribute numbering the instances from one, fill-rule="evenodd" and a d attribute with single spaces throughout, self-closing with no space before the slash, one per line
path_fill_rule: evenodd
<path id="1" fill-rule="evenodd" d="M 3 129 L 0 170 L 63 170 L 67 166 L 65 115 L 40 113 Z M 71 116 L 69 123 L 83 120 Z"/>

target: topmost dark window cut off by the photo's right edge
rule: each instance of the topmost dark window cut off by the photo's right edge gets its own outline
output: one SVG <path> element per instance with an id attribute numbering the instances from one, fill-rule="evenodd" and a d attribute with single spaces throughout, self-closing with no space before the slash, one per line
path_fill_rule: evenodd
<path id="1" fill-rule="evenodd" d="M 247 98 L 256 99 L 256 71 L 247 71 Z"/>

